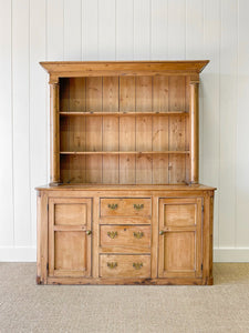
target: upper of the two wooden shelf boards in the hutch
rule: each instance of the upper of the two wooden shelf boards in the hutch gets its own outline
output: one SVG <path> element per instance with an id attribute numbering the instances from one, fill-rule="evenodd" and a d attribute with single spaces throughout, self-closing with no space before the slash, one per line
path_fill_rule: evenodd
<path id="1" fill-rule="evenodd" d="M 168 111 L 168 112 L 60 112 L 61 115 L 188 115 L 185 111 Z"/>

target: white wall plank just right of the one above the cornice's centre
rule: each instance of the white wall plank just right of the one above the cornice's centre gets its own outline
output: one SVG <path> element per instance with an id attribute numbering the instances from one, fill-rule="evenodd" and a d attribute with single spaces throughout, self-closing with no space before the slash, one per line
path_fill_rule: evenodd
<path id="1" fill-rule="evenodd" d="M 151 59 L 149 0 L 134 0 L 134 59 Z"/>

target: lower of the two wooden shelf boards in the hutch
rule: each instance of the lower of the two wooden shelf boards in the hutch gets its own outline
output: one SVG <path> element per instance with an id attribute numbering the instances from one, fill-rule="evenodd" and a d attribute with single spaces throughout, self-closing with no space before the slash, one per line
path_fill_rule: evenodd
<path id="1" fill-rule="evenodd" d="M 64 155 L 189 154 L 189 151 L 61 151 Z"/>

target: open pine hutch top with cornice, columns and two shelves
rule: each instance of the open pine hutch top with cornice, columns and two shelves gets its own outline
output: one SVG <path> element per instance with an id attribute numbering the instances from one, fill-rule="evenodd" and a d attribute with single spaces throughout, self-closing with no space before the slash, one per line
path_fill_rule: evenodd
<path id="1" fill-rule="evenodd" d="M 208 62 L 40 62 L 51 87 L 50 185 L 198 184 Z"/>

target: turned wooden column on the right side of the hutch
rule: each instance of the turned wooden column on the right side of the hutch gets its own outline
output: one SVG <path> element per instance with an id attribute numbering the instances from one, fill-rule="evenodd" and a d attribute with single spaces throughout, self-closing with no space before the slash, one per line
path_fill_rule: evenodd
<path id="1" fill-rule="evenodd" d="M 190 81 L 190 183 L 199 182 L 199 82 Z"/>

